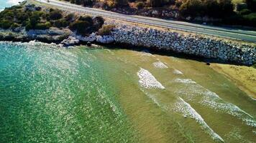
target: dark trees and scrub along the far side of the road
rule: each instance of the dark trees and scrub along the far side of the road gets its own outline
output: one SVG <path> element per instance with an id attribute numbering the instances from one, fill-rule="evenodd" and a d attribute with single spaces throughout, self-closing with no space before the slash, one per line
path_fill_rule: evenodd
<path id="1" fill-rule="evenodd" d="M 144 14 L 150 9 L 176 11 L 176 19 L 195 20 L 198 17 L 215 19 L 216 24 L 232 24 L 256 27 L 256 0 L 62 0 L 83 6 L 101 9 L 137 9 L 135 14 Z M 142 10 L 143 9 L 143 10 Z M 152 15 L 152 14 L 151 14 Z M 149 14 L 149 16 L 151 16 Z M 160 14 L 160 16 L 163 14 Z M 147 16 L 147 15 L 146 15 Z M 166 18 L 166 17 L 165 17 Z M 168 18 L 168 17 L 167 17 Z M 174 18 L 170 16 L 170 18 Z M 204 21 L 201 20 L 201 21 Z"/>

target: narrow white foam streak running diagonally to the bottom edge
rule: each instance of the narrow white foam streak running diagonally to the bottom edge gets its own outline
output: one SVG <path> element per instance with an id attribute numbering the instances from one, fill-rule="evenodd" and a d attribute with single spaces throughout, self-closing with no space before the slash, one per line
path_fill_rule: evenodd
<path id="1" fill-rule="evenodd" d="M 224 140 L 219 136 L 219 134 L 216 134 L 211 127 L 209 127 L 208 124 L 204 121 L 204 119 L 201 117 L 198 112 L 196 112 L 193 107 L 191 107 L 190 104 L 185 102 L 182 98 L 179 97 L 179 102 L 175 104 L 175 112 L 180 112 L 184 116 L 191 117 L 192 119 L 196 119 L 196 122 L 198 124 L 201 124 L 201 127 L 206 130 L 206 132 L 211 136 L 212 139 L 219 141 L 219 142 L 224 142 Z"/>

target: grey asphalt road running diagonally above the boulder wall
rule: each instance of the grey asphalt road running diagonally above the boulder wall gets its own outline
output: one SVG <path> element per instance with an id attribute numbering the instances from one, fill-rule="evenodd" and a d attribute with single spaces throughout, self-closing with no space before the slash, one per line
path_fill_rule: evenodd
<path id="1" fill-rule="evenodd" d="M 94 16 L 103 16 L 110 19 L 118 19 L 122 21 L 129 21 L 129 22 L 134 22 L 139 24 L 147 24 L 151 26 L 159 26 L 159 27 L 168 28 L 168 29 L 176 29 L 176 30 L 187 31 L 192 33 L 206 34 L 211 36 L 220 36 L 220 37 L 226 37 L 229 39 L 238 39 L 242 41 L 250 41 L 250 42 L 256 43 L 256 31 L 232 29 L 232 28 L 218 27 L 218 26 L 205 26 L 201 24 L 191 24 L 183 21 L 157 19 L 157 18 L 151 18 L 147 16 L 118 14 L 111 11 L 104 11 L 101 9 L 93 9 L 93 8 L 78 6 L 76 4 L 70 4 L 70 3 L 58 1 L 58 0 L 50 0 L 50 2 L 47 2 L 47 0 L 35 0 L 35 1 L 56 6 L 58 9 L 76 11 L 76 12 L 81 12 L 85 14 L 91 14 Z"/>

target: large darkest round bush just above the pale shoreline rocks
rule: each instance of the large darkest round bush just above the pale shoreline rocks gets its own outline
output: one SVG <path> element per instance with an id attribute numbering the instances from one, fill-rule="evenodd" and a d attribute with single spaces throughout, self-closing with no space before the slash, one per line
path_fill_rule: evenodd
<path id="1" fill-rule="evenodd" d="M 74 21 L 69 25 L 69 28 L 76 31 L 78 34 L 86 35 L 91 31 L 91 24 L 88 21 Z"/>

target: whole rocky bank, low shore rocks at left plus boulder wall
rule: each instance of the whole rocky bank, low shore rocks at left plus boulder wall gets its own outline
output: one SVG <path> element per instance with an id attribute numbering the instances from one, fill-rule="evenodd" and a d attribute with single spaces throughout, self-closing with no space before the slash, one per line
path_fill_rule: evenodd
<path id="1" fill-rule="evenodd" d="M 252 65 L 256 62 L 255 44 L 244 44 L 236 40 L 227 40 L 201 34 L 187 34 L 181 31 L 157 29 L 147 26 L 123 24 L 120 21 L 106 20 L 105 26 L 111 29 L 107 34 L 97 31 L 88 36 L 76 34 L 69 29 L 51 28 L 47 30 L 29 30 L 19 27 L 14 30 L 0 30 L 1 41 L 43 41 L 47 43 L 73 46 L 87 43 L 128 44 L 144 46 L 157 51 L 167 51 L 204 58 L 230 61 L 235 64 Z"/>

